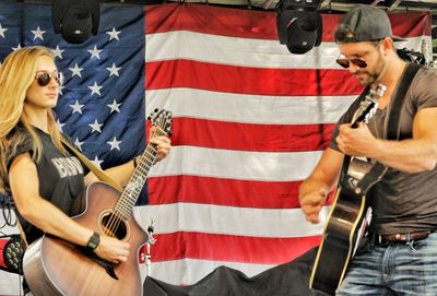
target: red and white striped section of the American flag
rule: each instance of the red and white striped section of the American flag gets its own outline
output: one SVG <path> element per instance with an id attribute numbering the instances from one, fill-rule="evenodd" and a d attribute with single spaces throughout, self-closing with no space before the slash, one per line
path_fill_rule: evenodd
<path id="1" fill-rule="evenodd" d="M 218 265 L 258 274 L 320 241 L 298 186 L 334 122 L 362 91 L 335 64 L 341 15 L 323 15 L 323 43 L 306 55 L 280 45 L 274 12 L 203 4 L 146 8 L 149 110 L 173 111 L 168 157 L 152 168 L 151 275 L 193 284 Z M 400 48 L 430 45 L 429 14 L 392 15 Z M 328 205 L 322 212 L 326 218 Z"/>

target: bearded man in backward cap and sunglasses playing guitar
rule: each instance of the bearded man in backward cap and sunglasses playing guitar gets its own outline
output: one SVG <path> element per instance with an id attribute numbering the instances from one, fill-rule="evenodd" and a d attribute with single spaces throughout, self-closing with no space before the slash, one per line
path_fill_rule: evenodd
<path id="1" fill-rule="evenodd" d="M 357 102 L 341 117 L 299 188 L 307 221 L 318 223 L 345 155 L 387 167 L 367 197 L 373 220 L 336 295 L 437 295 L 437 73 L 418 69 L 401 94 L 403 105 L 391 105 L 409 66 L 393 39 L 390 21 L 378 8 L 359 5 L 342 17 L 335 31 L 338 63 L 367 88 L 383 84 L 387 91 L 367 123 L 350 123 Z M 397 107 L 399 139 L 387 140 L 387 121 Z"/>

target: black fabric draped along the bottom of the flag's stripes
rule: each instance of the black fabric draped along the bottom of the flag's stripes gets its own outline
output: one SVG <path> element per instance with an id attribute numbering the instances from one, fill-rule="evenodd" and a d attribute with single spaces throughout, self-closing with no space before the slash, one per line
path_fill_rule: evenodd
<path id="1" fill-rule="evenodd" d="M 248 277 L 243 272 L 218 267 L 198 283 L 188 286 L 172 285 L 147 276 L 144 281 L 146 296 L 321 296 L 309 289 L 309 277 L 316 259 L 317 248 L 312 248 L 295 260 L 271 268 L 256 276 Z"/>

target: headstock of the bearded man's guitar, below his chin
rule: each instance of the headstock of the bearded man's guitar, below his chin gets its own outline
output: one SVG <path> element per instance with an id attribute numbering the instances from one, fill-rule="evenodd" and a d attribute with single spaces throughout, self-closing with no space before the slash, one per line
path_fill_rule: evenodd
<path id="1" fill-rule="evenodd" d="M 370 88 L 369 93 L 359 104 L 358 109 L 355 111 L 351 121 L 355 127 L 357 122 L 368 122 L 378 109 L 378 99 L 383 95 L 387 87 L 383 84 L 378 84 L 375 88 Z"/>

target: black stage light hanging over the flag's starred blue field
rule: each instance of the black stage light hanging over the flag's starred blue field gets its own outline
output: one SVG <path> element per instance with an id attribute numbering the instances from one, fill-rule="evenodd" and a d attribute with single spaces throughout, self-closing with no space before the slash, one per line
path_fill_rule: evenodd
<path id="1" fill-rule="evenodd" d="M 81 44 L 92 34 L 97 35 L 99 20 L 99 0 L 54 0 L 55 33 L 70 44 Z"/>

